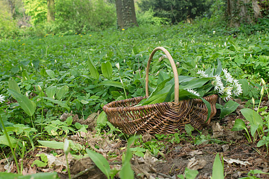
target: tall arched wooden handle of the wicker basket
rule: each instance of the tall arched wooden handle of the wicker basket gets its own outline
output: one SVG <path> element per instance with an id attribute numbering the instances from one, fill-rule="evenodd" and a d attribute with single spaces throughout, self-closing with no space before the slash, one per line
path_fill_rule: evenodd
<path id="1" fill-rule="evenodd" d="M 170 55 L 170 53 L 164 49 L 163 47 L 157 47 L 155 48 L 149 58 L 148 64 L 147 64 L 147 69 L 146 69 L 146 97 L 149 97 L 149 72 L 150 72 L 150 63 L 151 60 L 155 54 L 155 52 L 157 52 L 158 50 L 161 50 L 162 52 L 164 52 L 164 54 L 168 57 L 170 64 L 172 66 L 173 69 L 173 73 L 174 73 L 174 79 L 175 79 L 175 103 L 178 103 L 178 97 L 179 97 L 179 83 L 178 83 L 178 73 L 177 73 L 177 68 L 175 65 L 175 62 L 172 58 L 172 56 Z"/>

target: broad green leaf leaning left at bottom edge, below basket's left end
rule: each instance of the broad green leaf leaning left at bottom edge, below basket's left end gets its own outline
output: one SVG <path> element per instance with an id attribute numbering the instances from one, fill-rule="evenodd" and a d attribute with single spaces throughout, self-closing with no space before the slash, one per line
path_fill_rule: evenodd
<path id="1" fill-rule="evenodd" d="M 110 166 L 108 161 L 104 158 L 103 155 L 97 153 L 95 151 L 86 149 L 86 152 L 90 156 L 91 160 L 95 163 L 95 165 L 108 177 L 110 178 Z"/>

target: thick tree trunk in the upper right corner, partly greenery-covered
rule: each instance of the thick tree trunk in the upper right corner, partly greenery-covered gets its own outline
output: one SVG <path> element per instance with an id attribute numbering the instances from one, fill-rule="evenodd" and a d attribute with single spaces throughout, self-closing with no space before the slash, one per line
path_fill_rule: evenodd
<path id="1" fill-rule="evenodd" d="M 227 0 L 227 15 L 231 27 L 241 24 L 252 24 L 262 17 L 257 0 Z"/>

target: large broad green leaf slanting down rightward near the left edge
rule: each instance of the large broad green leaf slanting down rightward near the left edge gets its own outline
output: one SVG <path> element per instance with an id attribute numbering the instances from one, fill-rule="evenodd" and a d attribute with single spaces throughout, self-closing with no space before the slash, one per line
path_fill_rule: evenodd
<path id="1" fill-rule="evenodd" d="M 22 107 L 25 113 L 29 116 L 33 116 L 36 104 L 27 98 L 25 95 L 19 94 L 14 89 L 8 89 L 8 92 L 12 95 L 12 97 L 17 100 L 20 107 Z"/>

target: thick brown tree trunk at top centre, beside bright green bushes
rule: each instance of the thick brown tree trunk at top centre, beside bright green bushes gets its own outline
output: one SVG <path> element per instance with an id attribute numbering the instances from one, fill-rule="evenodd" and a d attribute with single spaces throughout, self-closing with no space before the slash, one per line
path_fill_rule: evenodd
<path id="1" fill-rule="evenodd" d="M 134 0 L 115 0 L 117 23 L 120 29 L 138 26 L 135 16 Z"/>

